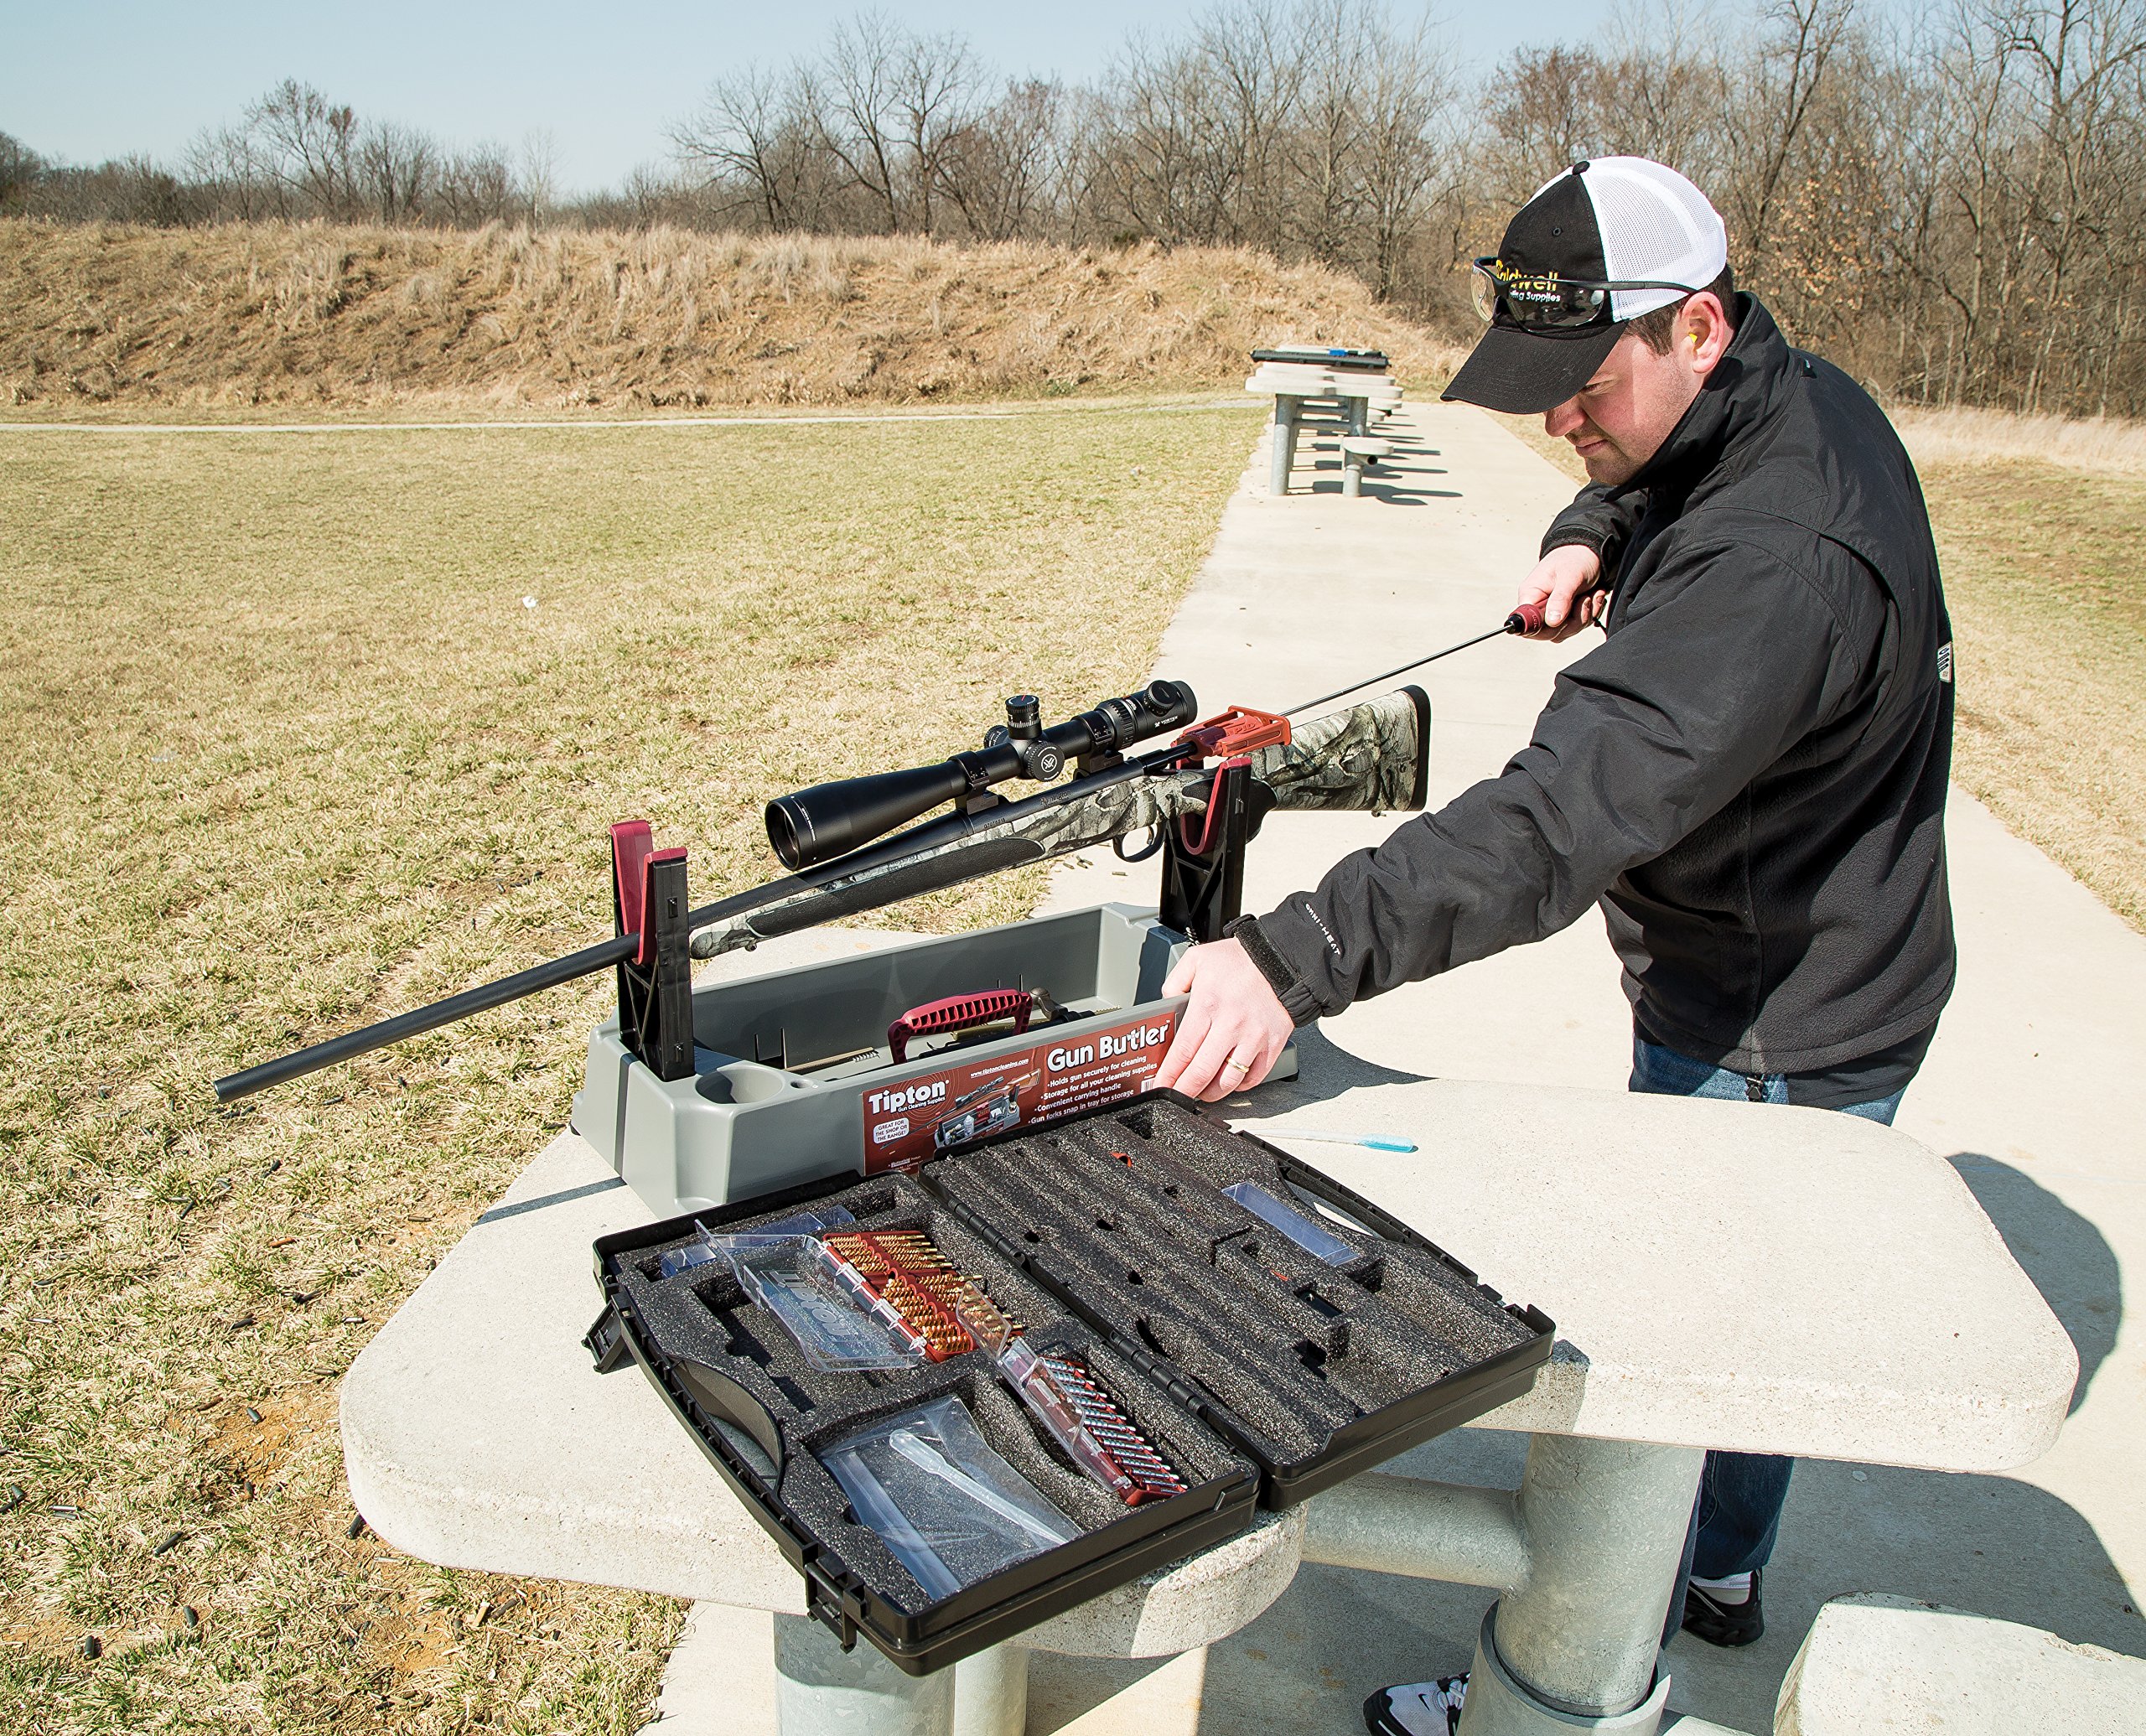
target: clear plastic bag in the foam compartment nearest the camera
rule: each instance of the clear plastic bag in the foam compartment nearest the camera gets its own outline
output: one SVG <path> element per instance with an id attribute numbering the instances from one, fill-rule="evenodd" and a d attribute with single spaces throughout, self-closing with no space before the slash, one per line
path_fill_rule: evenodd
<path id="1" fill-rule="evenodd" d="M 934 1599 L 1079 1534 L 991 1451 L 955 1397 L 867 1423 L 824 1448 L 820 1463 Z"/>

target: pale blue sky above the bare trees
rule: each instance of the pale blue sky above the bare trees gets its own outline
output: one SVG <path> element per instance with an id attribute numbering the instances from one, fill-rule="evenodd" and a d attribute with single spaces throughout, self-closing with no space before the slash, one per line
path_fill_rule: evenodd
<path id="1" fill-rule="evenodd" d="M 425 127 L 455 144 L 519 146 L 552 135 L 564 189 L 603 187 L 663 159 L 663 129 L 708 82 L 747 60 L 811 52 L 852 0 L 631 6 L 521 0 L 0 0 L 0 133 L 47 157 L 94 163 L 174 157 L 204 127 L 236 120 L 285 77 L 320 86 L 361 116 Z M 1006 73 L 1099 75 L 1133 30 L 1174 32 L 1191 0 L 1082 0 L 1077 6 L 888 4 L 921 30 L 953 30 Z M 1414 11 L 1406 13 L 1414 17 Z M 1453 45 L 1489 62 L 1556 32 L 1530 6 L 1446 4 Z M 1597 15 L 1573 9 L 1569 36 Z"/>

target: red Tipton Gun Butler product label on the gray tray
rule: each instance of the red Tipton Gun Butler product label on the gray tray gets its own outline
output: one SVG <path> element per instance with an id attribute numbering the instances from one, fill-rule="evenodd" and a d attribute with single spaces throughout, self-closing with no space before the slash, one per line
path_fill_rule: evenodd
<path id="1" fill-rule="evenodd" d="M 931 1152 L 1133 1097 L 1170 1051 L 1178 1013 L 1079 1019 L 1028 1049 L 865 1092 L 865 1174 L 914 1169 Z"/>

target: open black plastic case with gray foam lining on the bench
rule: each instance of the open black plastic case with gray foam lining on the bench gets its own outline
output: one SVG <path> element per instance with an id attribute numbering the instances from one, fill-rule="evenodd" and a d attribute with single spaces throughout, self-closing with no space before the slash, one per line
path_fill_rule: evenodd
<path id="1" fill-rule="evenodd" d="M 987 1356 L 813 1369 L 730 1266 L 661 1275 L 667 1249 L 803 1210 L 929 1236 L 1039 1350 L 1090 1369 L 1185 1489 L 1101 1502 L 1024 1427 Z M 1532 1384 L 1554 1335 L 1371 1202 L 1174 1092 L 620 1232 L 594 1255 L 599 1365 L 637 1360 L 805 1575 L 811 1612 L 912 1674 L 1208 1549 L 1255 1502 L 1290 1506 L 1481 1416 Z M 1077 1534 L 936 1594 L 831 1466 L 858 1425 L 944 1397 Z"/>

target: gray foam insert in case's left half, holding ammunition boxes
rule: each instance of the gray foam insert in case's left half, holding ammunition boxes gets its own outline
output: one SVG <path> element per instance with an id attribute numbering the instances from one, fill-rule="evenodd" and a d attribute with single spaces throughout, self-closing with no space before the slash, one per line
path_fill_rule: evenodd
<path id="1" fill-rule="evenodd" d="M 1191 1410 L 1112 1352 L 1094 1330 L 1069 1318 L 1047 1292 L 970 1234 L 914 1178 L 878 1176 L 822 1195 L 813 1206 L 846 1206 L 854 1212 L 858 1230 L 929 1234 L 957 1270 L 983 1279 L 998 1307 L 1024 1326 L 1037 1350 L 1086 1363 L 1185 1483 L 1197 1487 L 1232 1470 L 1251 1472 L 1251 1466 Z M 783 1219 L 796 1210 L 796 1204 L 788 1204 L 760 1217 L 725 1221 L 719 1232 L 751 1230 L 755 1223 Z M 663 1354 L 719 1369 L 773 1418 L 788 1446 L 775 1478 L 777 1498 L 843 1566 L 897 1609 L 918 1614 L 931 1599 L 886 1545 L 854 1521 L 841 1485 L 813 1457 L 815 1448 L 831 1446 L 876 1416 L 955 1393 L 991 1448 L 1079 1530 L 1101 1530 L 1127 1517 L 1129 1509 L 1097 1487 L 1049 1440 L 983 1352 L 891 1373 L 818 1371 L 805 1363 L 781 1322 L 747 1298 L 727 1266 L 695 1266 L 672 1279 L 659 1277 L 661 1253 L 691 1240 L 693 1234 L 657 1242 L 631 1262 L 622 1262 L 618 1268 L 622 1300 Z"/>

